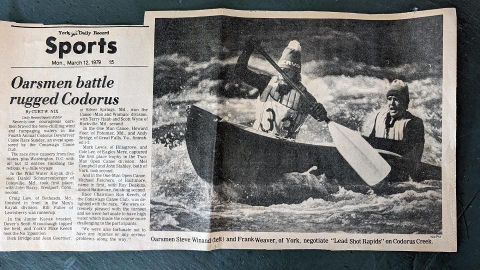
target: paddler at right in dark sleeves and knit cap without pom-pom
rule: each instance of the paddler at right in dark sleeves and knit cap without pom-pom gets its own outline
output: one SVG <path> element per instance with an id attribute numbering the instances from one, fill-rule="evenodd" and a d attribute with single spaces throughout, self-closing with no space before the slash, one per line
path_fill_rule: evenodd
<path id="1" fill-rule="evenodd" d="M 408 85 L 395 79 L 386 91 L 386 108 L 375 117 L 368 141 L 375 148 L 420 160 L 425 143 L 423 121 L 408 109 Z"/>

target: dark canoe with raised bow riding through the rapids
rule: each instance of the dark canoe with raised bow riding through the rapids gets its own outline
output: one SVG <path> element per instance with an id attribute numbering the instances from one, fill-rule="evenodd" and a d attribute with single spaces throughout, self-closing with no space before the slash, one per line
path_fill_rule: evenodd
<path id="1" fill-rule="evenodd" d="M 196 173 L 219 185 L 269 183 L 284 173 L 305 172 L 335 177 L 340 184 L 365 184 L 332 143 L 308 144 L 229 122 L 190 106 L 185 143 Z M 441 167 L 377 149 L 392 170 L 383 181 L 412 178 L 441 180 Z"/>

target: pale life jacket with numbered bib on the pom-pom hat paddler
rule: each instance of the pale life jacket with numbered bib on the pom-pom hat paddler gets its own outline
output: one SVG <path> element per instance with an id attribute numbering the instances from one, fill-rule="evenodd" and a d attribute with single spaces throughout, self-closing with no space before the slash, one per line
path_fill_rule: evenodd
<path id="1" fill-rule="evenodd" d="M 257 98 L 253 128 L 280 137 L 295 138 L 308 114 L 303 109 L 300 93 L 291 89 L 281 94 L 278 81 L 278 77 L 272 77 Z"/>

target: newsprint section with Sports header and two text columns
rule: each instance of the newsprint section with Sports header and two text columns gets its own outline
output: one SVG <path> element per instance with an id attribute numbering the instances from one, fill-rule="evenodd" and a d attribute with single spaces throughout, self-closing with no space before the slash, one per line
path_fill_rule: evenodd
<path id="1" fill-rule="evenodd" d="M 146 248 L 148 32 L 0 22 L 2 251 Z"/>

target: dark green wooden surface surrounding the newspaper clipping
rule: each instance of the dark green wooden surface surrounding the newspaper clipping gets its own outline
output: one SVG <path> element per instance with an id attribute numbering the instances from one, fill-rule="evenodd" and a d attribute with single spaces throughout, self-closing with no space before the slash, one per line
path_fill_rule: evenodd
<path id="1" fill-rule="evenodd" d="M 215 250 L 0 252 L 2 269 L 147 268 L 480 268 L 480 3 L 448 0 L 1 0 L 0 20 L 30 23 L 141 24 L 145 10 L 204 9 L 321 10 L 396 13 L 456 7 L 457 59 L 457 212 L 458 252 L 382 252 L 328 250 Z M 1 59 L 0 59 L 1 61 Z M 446 116 L 446 115 L 445 115 Z M 4 244 L 4 243 L 0 243 Z"/>

